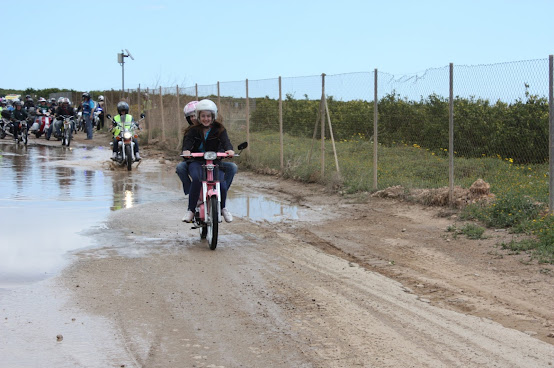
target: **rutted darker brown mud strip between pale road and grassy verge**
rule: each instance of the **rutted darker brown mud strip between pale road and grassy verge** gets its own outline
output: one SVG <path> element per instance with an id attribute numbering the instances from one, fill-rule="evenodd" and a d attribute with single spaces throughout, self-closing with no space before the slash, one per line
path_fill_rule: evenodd
<path id="1" fill-rule="evenodd" d="M 536 337 L 552 344 L 552 338 L 549 337 L 552 331 L 552 314 L 548 305 L 536 304 L 512 296 L 509 289 L 504 293 L 499 292 L 495 284 L 487 285 L 480 282 L 484 276 L 487 276 L 495 279 L 498 284 L 501 281 L 494 273 L 481 270 L 480 275 L 468 274 L 470 269 L 458 265 L 446 254 L 427 249 L 423 244 L 419 244 L 421 239 L 408 242 L 398 238 L 386 239 L 371 235 L 370 238 L 361 240 L 357 236 L 349 236 L 346 232 L 342 232 L 338 235 L 341 245 L 337 245 L 333 243 L 334 239 L 327 240 L 334 236 L 325 230 L 328 227 L 313 226 L 313 229 L 306 229 L 301 226 L 295 225 L 294 233 L 301 234 L 299 238 L 303 241 L 329 254 L 400 281 L 411 288 L 410 292 L 416 293 L 436 306 L 489 318 L 522 332 L 532 331 L 529 333 L 533 335 L 536 333 L 538 334 Z M 429 236 L 429 238 L 432 237 Z M 345 246 L 347 243 L 363 243 L 368 246 L 364 248 L 363 254 L 354 247 L 354 254 L 345 250 L 352 248 Z M 390 258 L 383 258 L 383 254 L 389 255 Z M 389 259 L 394 259 L 396 262 L 392 263 Z M 441 267 L 435 271 L 433 265 L 438 264 Z M 445 269 L 448 269 L 448 273 L 444 273 Z"/>

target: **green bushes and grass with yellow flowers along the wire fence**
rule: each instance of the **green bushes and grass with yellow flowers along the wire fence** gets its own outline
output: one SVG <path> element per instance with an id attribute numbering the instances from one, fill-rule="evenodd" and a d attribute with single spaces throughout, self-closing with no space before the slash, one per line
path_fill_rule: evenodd
<path id="1" fill-rule="evenodd" d="M 319 182 L 343 194 L 375 192 L 373 142 L 369 125 L 342 124 L 342 119 L 360 121 L 362 115 L 367 120 L 367 116 L 372 115 L 371 105 L 360 101 L 330 101 L 340 170 L 335 165 L 331 140 L 326 138 L 325 172 L 322 177 L 321 140 L 319 128 L 314 128 L 318 102 L 288 102 L 284 104 L 287 107 L 283 115 L 284 119 L 289 119 L 285 127 L 288 126 L 288 131 L 292 130 L 293 133 L 283 136 L 283 167 L 280 162 L 278 126 L 274 123 L 278 120 L 271 115 L 277 110 L 269 108 L 274 107 L 275 103 L 269 99 L 257 101 L 249 142 L 249 152 L 252 153 L 244 155 L 241 166 L 300 182 Z M 455 185 L 469 188 L 475 180 L 483 179 L 495 196 L 492 201 L 465 206 L 461 209 L 461 217 L 478 221 L 489 228 L 504 228 L 513 233 L 529 235 L 524 237 L 525 240 L 501 246 L 514 253 L 529 252 L 540 263 L 554 264 L 554 217 L 547 208 L 549 168 L 545 156 L 548 140 L 546 100 L 528 95 L 526 101 L 516 101 L 511 105 L 501 102 L 489 104 L 488 101 L 473 99 L 457 99 L 456 103 L 458 131 L 455 132 L 455 141 L 464 143 L 457 145 L 460 147 L 459 152 L 455 150 Z M 346 104 L 356 104 L 357 107 L 349 109 Z M 436 125 L 439 120 L 447 120 L 446 101 L 431 96 L 427 100 L 410 103 L 390 95 L 380 101 L 379 109 L 380 123 L 384 120 L 383 124 L 388 125 L 379 128 L 381 143 L 377 150 L 377 189 L 401 186 L 408 193 L 413 189 L 448 187 L 445 129 L 439 129 Z M 295 110 L 298 111 L 295 113 Z M 352 116 L 352 111 L 360 116 Z M 296 122 L 290 120 L 292 117 L 296 117 Z M 390 120 L 388 123 L 387 119 Z M 414 119 L 421 124 L 415 127 L 412 124 Z M 396 122 L 395 129 L 390 127 L 393 121 Z M 490 121 L 496 123 L 491 124 Z M 469 129 L 471 124 L 473 127 Z M 363 129 L 364 126 L 366 129 Z M 488 131 L 480 131 L 485 128 Z M 427 133 L 423 133 L 425 131 Z M 418 137 L 425 139 L 418 143 Z M 231 131 L 234 142 L 244 138 L 244 130 Z M 501 153 L 495 153 L 498 150 Z M 482 236 L 478 226 L 456 231 L 470 238 Z"/>

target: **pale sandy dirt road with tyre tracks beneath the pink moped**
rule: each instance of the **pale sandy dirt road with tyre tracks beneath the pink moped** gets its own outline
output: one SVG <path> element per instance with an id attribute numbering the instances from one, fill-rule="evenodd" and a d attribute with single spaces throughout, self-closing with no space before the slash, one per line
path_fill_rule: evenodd
<path id="1" fill-rule="evenodd" d="M 141 152 L 174 170 L 153 147 Z M 113 367 L 554 364 L 554 267 L 502 250 L 512 234 L 487 230 L 470 240 L 446 231 L 461 223 L 445 208 L 339 196 L 249 172 L 236 183 L 298 206 L 299 220 L 235 216 L 210 251 L 180 222 L 182 193 L 115 212 L 91 235 L 100 246 L 78 252 L 41 286 L 63 296 L 45 319 L 86 320 L 59 326 L 57 359 Z M 17 311 L 4 312 L 8 327 L 27 328 Z M 94 356 L 83 358 L 79 344 Z"/>

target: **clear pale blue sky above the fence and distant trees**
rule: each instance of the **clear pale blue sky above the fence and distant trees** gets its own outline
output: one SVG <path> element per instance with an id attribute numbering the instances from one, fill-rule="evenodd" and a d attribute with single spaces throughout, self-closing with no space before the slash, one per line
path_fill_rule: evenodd
<path id="1" fill-rule="evenodd" d="M 1 88 L 182 87 L 543 59 L 554 1 L 2 2 Z"/>

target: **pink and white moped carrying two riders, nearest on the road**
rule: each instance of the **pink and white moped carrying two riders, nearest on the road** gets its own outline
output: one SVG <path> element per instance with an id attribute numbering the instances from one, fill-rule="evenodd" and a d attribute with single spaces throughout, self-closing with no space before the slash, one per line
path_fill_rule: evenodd
<path id="1" fill-rule="evenodd" d="M 240 152 L 248 147 L 248 142 L 239 144 Z M 240 152 L 234 157 L 240 156 Z M 181 155 L 181 157 L 188 158 Z M 211 250 L 217 247 L 217 236 L 221 220 L 221 190 L 219 184 L 219 165 L 214 164 L 217 158 L 228 157 L 225 152 L 192 152 L 189 157 L 203 157 L 202 187 L 196 205 L 192 229 L 200 229 L 200 239 L 207 239 Z"/>

